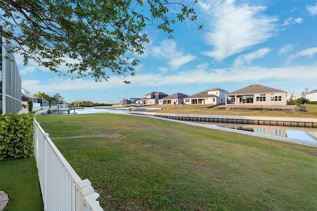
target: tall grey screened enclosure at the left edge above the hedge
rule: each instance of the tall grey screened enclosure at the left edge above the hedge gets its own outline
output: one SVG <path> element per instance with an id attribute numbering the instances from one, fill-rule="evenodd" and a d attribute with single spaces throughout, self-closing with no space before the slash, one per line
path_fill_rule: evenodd
<path id="1" fill-rule="evenodd" d="M 22 112 L 22 80 L 10 44 L 0 36 L 0 113 Z"/>

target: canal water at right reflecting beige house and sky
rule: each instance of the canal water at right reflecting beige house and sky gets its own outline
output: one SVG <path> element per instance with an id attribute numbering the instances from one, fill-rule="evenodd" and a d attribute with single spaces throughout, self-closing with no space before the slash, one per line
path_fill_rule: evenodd
<path id="1" fill-rule="evenodd" d="M 274 125 L 254 125 L 254 124 L 232 124 L 218 122 L 196 122 L 209 124 L 217 127 L 230 128 L 235 130 L 245 130 L 267 135 L 281 136 L 292 139 L 317 142 L 317 129 L 311 127 L 287 127 Z"/>

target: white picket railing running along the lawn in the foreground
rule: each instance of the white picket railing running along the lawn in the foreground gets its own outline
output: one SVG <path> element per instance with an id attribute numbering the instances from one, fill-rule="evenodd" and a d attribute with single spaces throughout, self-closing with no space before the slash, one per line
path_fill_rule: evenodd
<path id="1" fill-rule="evenodd" d="M 88 179 L 81 180 L 34 119 L 34 156 L 45 211 L 102 211 Z"/>

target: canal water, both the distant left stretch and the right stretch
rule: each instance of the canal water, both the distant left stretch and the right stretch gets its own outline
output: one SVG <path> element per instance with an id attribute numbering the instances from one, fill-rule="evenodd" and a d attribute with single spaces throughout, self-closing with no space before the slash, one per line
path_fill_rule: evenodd
<path id="1" fill-rule="evenodd" d="M 129 114 L 128 110 L 102 109 L 102 108 L 93 108 L 93 107 L 87 107 L 84 109 L 76 109 L 75 112 L 78 114 L 85 114 L 85 113 Z M 273 135 L 278 137 L 286 137 L 291 139 L 298 139 L 298 140 L 304 140 L 304 141 L 317 143 L 317 128 L 311 128 L 311 127 L 287 127 L 287 126 L 273 126 L 273 125 L 234 124 L 234 123 L 197 122 L 197 121 L 195 121 L 195 124 L 202 124 L 202 125 L 208 124 L 208 125 L 212 125 L 212 126 L 216 126 L 220 128 L 250 131 L 254 133 Z"/>

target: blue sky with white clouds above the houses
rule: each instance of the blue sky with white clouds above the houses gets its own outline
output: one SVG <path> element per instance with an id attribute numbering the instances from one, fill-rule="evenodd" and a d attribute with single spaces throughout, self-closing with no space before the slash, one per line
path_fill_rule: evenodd
<path id="1" fill-rule="evenodd" d="M 186 2 L 186 1 L 185 1 Z M 176 8 L 171 7 L 170 12 Z M 151 43 L 131 84 L 110 75 L 109 81 L 71 80 L 39 67 L 23 66 L 15 55 L 22 87 L 36 94 L 59 93 L 66 102 L 85 100 L 118 103 L 150 92 L 168 95 L 219 88 L 228 92 L 251 84 L 299 95 L 317 89 L 316 0 L 202 0 L 195 6 L 198 26 L 176 23 L 174 39 L 149 27 Z M 171 14 L 173 15 L 173 14 Z"/>

